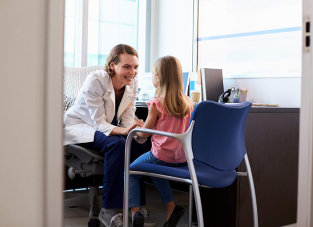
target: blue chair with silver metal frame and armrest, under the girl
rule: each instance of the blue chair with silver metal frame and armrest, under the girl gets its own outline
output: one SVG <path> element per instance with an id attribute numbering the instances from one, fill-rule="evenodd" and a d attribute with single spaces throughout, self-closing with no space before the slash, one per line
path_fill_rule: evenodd
<path id="1" fill-rule="evenodd" d="M 198 226 L 204 227 L 200 187 L 224 188 L 231 185 L 237 176 L 249 179 L 254 227 L 258 227 L 258 215 L 254 184 L 249 160 L 244 145 L 244 127 L 252 104 L 225 105 L 204 101 L 194 109 L 189 129 L 183 134 L 174 134 L 151 129 L 136 128 L 130 132 L 125 148 L 124 180 L 124 227 L 128 227 L 129 175 L 138 174 L 158 177 L 189 184 L 189 223 L 192 226 L 192 194 L 195 196 Z M 139 163 L 130 169 L 131 138 L 136 132 L 157 134 L 177 139 L 184 147 L 187 165 L 167 167 Z M 235 169 L 245 161 L 246 173 Z"/>

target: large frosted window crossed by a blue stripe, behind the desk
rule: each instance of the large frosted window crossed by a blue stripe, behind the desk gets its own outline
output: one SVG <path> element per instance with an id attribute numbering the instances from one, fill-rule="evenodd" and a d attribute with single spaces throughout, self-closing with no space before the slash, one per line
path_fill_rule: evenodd
<path id="1" fill-rule="evenodd" d="M 301 76 L 301 0 L 199 0 L 198 69 L 225 78 Z"/>

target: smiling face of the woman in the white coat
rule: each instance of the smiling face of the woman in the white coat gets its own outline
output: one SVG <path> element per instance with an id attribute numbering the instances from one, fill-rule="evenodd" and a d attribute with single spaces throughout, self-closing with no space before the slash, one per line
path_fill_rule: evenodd
<path id="1" fill-rule="evenodd" d="M 110 68 L 115 72 L 112 76 L 114 86 L 131 85 L 134 77 L 138 74 L 138 58 L 122 53 L 119 55 L 119 62 L 116 65 L 111 62 Z"/>

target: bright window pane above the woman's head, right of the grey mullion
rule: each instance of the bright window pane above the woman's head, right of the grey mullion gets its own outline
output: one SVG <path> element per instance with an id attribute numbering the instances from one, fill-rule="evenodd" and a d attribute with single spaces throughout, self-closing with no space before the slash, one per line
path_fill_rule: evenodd
<path id="1" fill-rule="evenodd" d="M 89 0 L 87 66 L 104 65 L 119 43 L 137 48 L 137 0 Z"/>

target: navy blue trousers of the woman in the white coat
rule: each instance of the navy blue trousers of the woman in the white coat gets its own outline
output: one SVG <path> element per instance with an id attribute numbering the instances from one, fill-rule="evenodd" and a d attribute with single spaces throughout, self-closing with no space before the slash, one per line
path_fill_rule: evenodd
<path id="1" fill-rule="evenodd" d="M 100 151 L 104 155 L 103 207 L 105 209 L 123 208 L 125 144 L 127 136 L 105 136 L 95 133 L 94 142 L 79 144 L 81 147 Z M 147 152 L 146 144 L 133 139 L 131 144 L 131 163 Z M 144 179 L 140 179 L 140 205 L 145 205 Z"/>

